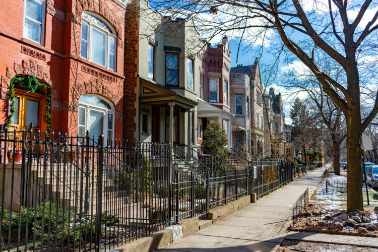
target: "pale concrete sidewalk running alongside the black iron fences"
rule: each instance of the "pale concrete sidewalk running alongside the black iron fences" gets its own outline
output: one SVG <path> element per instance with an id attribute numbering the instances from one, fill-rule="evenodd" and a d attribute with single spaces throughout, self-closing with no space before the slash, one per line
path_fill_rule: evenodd
<path id="1" fill-rule="evenodd" d="M 309 172 L 256 203 L 156 251 L 276 251 L 292 222 L 292 206 L 325 168 Z"/>

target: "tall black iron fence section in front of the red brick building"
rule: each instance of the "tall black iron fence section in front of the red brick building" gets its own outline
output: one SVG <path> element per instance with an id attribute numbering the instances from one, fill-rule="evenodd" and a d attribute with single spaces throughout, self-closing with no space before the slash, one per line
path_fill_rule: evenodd
<path id="1" fill-rule="evenodd" d="M 0 251 L 106 250 L 169 224 L 169 144 L 49 138 L 0 132 Z"/>

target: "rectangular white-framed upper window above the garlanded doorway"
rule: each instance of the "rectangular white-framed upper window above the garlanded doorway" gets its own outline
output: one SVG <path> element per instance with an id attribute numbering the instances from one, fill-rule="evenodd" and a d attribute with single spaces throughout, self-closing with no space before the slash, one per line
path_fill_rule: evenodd
<path id="1" fill-rule="evenodd" d="M 45 22 L 45 1 L 25 0 L 23 36 L 42 44 Z"/>

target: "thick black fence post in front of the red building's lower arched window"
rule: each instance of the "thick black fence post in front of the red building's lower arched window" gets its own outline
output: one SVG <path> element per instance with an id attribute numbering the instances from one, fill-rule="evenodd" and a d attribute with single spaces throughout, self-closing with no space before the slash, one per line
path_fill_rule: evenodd
<path id="1" fill-rule="evenodd" d="M 101 215 L 102 215 L 102 169 L 104 158 L 104 136 L 98 137 L 98 167 L 97 167 L 97 211 L 96 211 L 96 251 L 101 251 Z"/>

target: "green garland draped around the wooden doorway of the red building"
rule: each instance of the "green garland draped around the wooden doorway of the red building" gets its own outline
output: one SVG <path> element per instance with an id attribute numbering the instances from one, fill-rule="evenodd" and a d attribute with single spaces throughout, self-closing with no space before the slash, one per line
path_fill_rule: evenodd
<path id="1" fill-rule="evenodd" d="M 38 87 L 45 88 L 47 91 L 46 94 L 46 109 L 45 109 L 45 122 L 46 122 L 46 130 L 47 130 L 47 137 L 50 133 L 51 128 L 51 114 L 50 114 L 50 108 L 51 108 L 51 89 L 49 86 L 44 84 L 43 82 L 39 82 L 37 78 L 35 78 L 32 75 L 28 76 L 16 76 L 12 78 L 10 87 L 9 87 L 9 102 L 10 102 L 10 108 L 9 108 L 9 115 L 8 120 L 6 123 L 7 130 L 9 129 L 11 123 L 12 123 L 12 117 L 15 115 L 16 112 L 16 98 L 15 98 L 15 86 L 20 87 L 21 89 L 24 89 L 26 91 L 29 91 L 30 93 L 34 93 L 38 90 Z"/>

